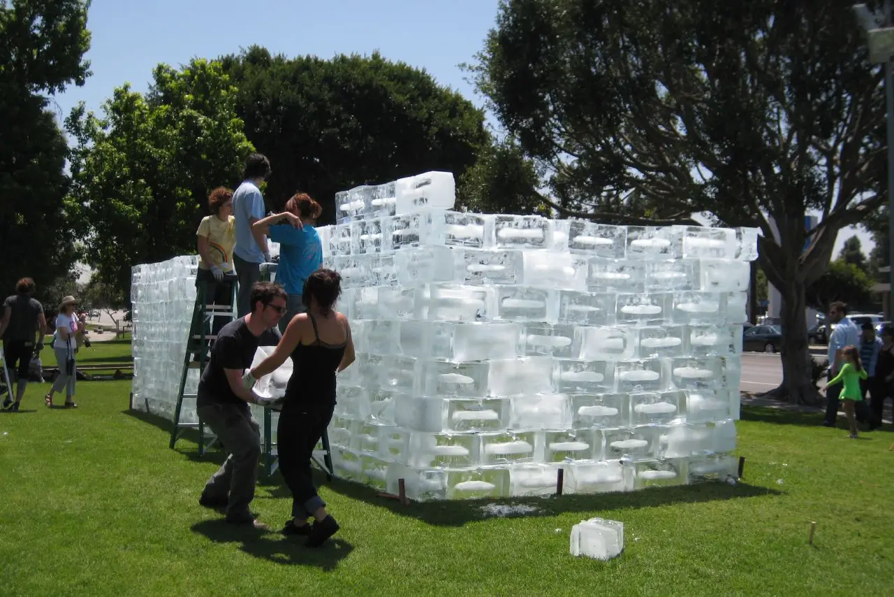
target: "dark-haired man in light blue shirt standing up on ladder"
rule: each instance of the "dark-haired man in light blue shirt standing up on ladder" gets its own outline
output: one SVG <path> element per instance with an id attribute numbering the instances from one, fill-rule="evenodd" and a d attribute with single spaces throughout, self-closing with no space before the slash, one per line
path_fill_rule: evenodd
<path id="1" fill-rule="evenodd" d="M 264 197 L 259 187 L 270 175 L 270 160 L 253 153 L 245 162 L 242 183 L 232 194 L 232 215 L 236 218 L 236 246 L 232 262 L 239 282 L 236 313 L 244 317 L 249 312 L 251 286 L 261 279 L 262 263 L 270 262 L 270 250 L 263 234 L 252 230 L 251 225 L 264 217 Z"/>

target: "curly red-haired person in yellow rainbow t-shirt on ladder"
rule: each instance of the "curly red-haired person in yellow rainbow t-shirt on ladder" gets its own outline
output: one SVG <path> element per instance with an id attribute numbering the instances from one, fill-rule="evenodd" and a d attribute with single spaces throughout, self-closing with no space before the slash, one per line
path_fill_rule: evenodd
<path id="1" fill-rule="evenodd" d="M 211 215 L 198 225 L 197 291 L 205 285 L 205 303 L 232 305 L 232 288 L 236 270 L 232 266 L 232 248 L 236 244 L 236 218 L 232 215 L 232 191 L 222 186 L 208 195 Z M 207 333 L 216 335 L 228 323 L 215 317 L 214 328 Z M 196 354 L 198 360 L 198 354 Z"/>

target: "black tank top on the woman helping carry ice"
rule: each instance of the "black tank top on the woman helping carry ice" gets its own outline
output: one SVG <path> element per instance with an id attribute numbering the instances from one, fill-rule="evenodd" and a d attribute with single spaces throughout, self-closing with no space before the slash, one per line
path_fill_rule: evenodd
<path id="1" fill-rule="evenodd" d="M 342 362 L 348 340 L 342 344 L 327 344 L 320 340 L 316 319 L 308 313 L 314 326 L 314 343 L 299 344 L 291 353 L 293 370 L 285 388 L 287 402 L 312 405 L 335 404 L 335 370 Z M 350 333 L 350 332 L 349 332 Z"/>

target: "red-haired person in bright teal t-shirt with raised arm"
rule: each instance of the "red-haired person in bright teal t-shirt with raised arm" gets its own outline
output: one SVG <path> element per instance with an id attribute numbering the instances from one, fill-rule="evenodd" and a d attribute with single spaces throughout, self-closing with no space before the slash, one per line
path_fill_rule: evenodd
<path id="1" fill-rule="evenodd" d="M 323 208 L 307 193 L 296 193 L 286 201 L 282 214 L 265 217 L 252 226 L 262 234 L 270 235 L 270 240 L 280 244 L 279 267 L 276 281 L 283 285 L 286 294 L 286 312 L 280 320 L 280 331 L 285 333 L 291 318 L 304 312 L 301 293 L 304 282 L 323 263 L 323 244 L 316 232 L 316 218 Z M 279 224 L 288 219 L 288 224 Z"/>

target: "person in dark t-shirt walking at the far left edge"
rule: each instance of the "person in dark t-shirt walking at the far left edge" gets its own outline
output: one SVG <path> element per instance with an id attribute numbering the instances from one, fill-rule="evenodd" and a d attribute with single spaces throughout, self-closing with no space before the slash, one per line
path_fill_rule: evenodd
<path id="1" fill-rule="evenodd" d="M 19 410 L 21 397 L 25 395 L 28 369 L 35 344 L 38 349 L 43 348 L 44 335 L 48 331 L 44 307 L 33 298 L 35 287 L 34 280 L 23 277 L 15 285 L 15 294 L 6 297 L 3 303 L 3 319 L 0 320 L 3 356 L 10 375 L 18 379 L 15 402 L 13 402 L 13 388 L 9 388 L 9 394 L 3 402 L 3 407 L 12 411 Z"/>

